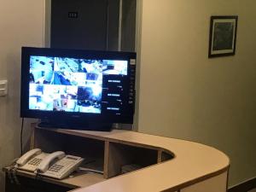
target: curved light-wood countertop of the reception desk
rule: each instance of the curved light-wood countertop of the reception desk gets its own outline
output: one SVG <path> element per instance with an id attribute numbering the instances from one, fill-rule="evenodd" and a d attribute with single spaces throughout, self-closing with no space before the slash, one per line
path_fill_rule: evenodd
<path id="1" fill-rule="evenodd" d="M 67 131 L 82 137 L 98 137 L 114 143 L 149 146 L 174 154 L 167 160 L 76 192 L 224 192 L 227 189 L 229 158 L 216 148 L 200 143 L 157 137 L 133 131 L 110 133 Z"/>

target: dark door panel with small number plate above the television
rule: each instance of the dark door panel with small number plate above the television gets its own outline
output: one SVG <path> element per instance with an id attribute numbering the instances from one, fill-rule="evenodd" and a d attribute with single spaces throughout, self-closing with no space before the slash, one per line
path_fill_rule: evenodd
<path id="1" fill-rule="evenodd" d="M 52 0 L 51 47 L 106 49 L 106 0 Z"/>

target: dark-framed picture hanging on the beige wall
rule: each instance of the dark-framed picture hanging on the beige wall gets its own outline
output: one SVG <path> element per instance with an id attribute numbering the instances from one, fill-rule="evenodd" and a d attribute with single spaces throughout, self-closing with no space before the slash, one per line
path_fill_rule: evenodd
<path id="1" fill-rule="evenodd" d="M 238 16 L 212 16 L 208 57 L 235 55 Z"/>

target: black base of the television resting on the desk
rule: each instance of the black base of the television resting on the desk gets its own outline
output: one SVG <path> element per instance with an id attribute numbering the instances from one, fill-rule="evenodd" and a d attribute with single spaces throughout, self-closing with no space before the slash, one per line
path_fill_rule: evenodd
<path id="1" fill-rule="evenodd" d="M 87 130 L 87 131 L 111 131 L 111 123 L 88 123 L 71 119 L 41 119 L 38 124 L 41 128 L 60 128 L 69 130 Z"/>

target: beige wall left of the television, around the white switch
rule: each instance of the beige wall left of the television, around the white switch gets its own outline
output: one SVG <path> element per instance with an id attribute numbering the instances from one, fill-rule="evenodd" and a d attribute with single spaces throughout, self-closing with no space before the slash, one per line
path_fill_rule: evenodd
<path id="1" fill-rule="evenodd" d="M 0 0 L 0 4 L 0 79 L 9 80 L 9 96 L 0 97 L 2 169 L 20 155 L 20 48 L 43 45 L 44 0 Z M 26 140 L 27 126 L 24 135 Z"/>

